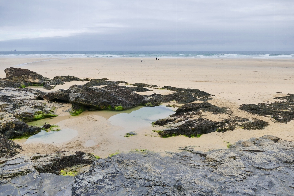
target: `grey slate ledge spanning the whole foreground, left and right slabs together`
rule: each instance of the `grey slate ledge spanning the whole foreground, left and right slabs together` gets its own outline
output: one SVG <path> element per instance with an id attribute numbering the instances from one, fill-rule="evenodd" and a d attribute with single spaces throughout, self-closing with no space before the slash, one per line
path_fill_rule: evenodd
<path id="1" fill-rule="evenodd" d="M 99 160 L 82 152 L 19 154 L 0 159 L 0 196 L 292 196 L 293 143 L 265 135 L 205 153 L 186 146 L 165 156 L 136 150 Z M 59 173 L 89 163 L 75 177 Z"/>

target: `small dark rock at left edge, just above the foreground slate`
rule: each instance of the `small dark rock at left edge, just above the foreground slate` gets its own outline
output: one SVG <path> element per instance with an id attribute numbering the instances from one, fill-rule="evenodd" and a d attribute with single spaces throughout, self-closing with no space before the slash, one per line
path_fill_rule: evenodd
<path id="1" fill-rule="evenodd" d="M 19 153 L 21 146 L 9 140 L 5 135 L 0 134 L 0 158 L 11 157 Z M 0 162 L 0 164 L 2 164 Z"/>

